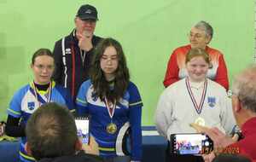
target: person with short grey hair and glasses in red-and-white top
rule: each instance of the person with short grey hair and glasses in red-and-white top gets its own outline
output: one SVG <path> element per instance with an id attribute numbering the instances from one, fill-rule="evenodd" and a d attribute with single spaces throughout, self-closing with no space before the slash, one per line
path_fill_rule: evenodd
<path id="1" fill-rule="evenodd" d="M 212 26 L 205 21 L 200 21 L 191 28 L 189 33 L 190 44 L 175 49 L 168 61 L 166 77 L 164 79 L 165 87 L 188 75 L 185 68 L 186 55 L 189 52 L 189 49 L 201 48 L 207 51 L 212 61 L 212 68 L 208 70 L 207 78 L 212 79 L 224 86 L 226 90 L 229 90 L 229 79 L 224 56 L 218 49 L 212 49 L 207 45 L 211 42 L 212 35 Z"/>

